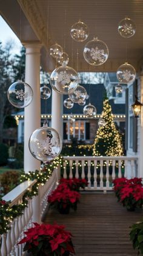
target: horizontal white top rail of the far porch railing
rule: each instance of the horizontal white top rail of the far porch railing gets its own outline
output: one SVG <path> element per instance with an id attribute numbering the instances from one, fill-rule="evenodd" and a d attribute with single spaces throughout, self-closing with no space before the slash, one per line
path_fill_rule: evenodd
<path id="1" fill-rule="evenodd" d="M 76 157 L 63 157 L 64 160 L 138 160 L 138 157 L 81 157 L 81 156 L 76 156 Z"/>

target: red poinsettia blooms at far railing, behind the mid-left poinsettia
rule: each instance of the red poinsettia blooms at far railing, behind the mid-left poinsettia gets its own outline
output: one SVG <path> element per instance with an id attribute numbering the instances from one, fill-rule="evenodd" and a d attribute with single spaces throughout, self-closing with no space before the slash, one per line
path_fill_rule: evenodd
<path id="1" fill-rule="evenodd" d="M 60 184 L 67 184 L 68 188 L 70 188 L 70 190 L 76 190 L 76 191 L 79 191 L 79 188 L 85 188 L 87 187 L 88 185 L 88 182 L 86 179 L 76 179 L 76 178 L 73 178 L 73 179 L 64 179 L 62 178 L 60 181 L 59 181 Z"/>

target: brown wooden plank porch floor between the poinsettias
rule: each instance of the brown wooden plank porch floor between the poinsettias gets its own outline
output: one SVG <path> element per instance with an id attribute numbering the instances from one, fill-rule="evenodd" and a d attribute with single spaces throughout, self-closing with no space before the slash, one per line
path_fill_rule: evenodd
<path id="1" fill-rule="evenodd" d="M 127 212 L 112 192 L 83 192 L 77 212 L 60 215 L 49 211 L 44 222 L 64 224 L 74 238 L 77 256 L 132 256 L 130 225 L 142 218 L 142 210 Z"/>

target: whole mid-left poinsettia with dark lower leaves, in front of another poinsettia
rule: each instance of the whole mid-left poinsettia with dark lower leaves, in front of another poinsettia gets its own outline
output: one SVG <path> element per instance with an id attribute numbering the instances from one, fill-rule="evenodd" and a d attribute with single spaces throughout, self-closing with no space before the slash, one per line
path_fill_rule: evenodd
<path id="1" fill-rule="evenodd" d="M 80 194 L 70 190 L 67 184 L 62 183 L 48 196 L 49 208 L 56 208 L 61 214 L 68 214 L 70 208 L 77 209 Z"/>

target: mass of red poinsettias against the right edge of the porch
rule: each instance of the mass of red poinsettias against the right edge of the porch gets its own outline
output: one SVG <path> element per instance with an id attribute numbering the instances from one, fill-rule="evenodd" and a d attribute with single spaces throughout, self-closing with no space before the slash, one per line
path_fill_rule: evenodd
<path id="1" fill-rule="evenodd" d="M 143 204 L 142 179 L 116 179 L 113 180 L 114 188 L 119 201 L 129 208 L 141 208 Z"/>

